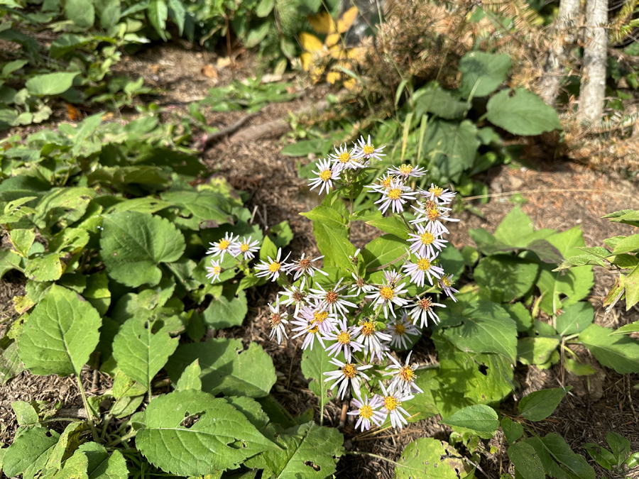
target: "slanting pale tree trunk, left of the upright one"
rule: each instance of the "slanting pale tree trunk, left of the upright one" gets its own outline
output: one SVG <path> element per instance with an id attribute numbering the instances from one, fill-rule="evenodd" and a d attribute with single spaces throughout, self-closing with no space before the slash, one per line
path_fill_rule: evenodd
<path id="1" fill-rule="evenodd" d="M 579 18 L 580 6 L 579 0 L 562 0 L 552 27 L 555 40 L 548 52 L 544 75 L 539 86 L 540 97 L 550 106 L 555 106 L 559 86 L 564 77 L 564 66 L 575 41 L 575 23 Z"/>

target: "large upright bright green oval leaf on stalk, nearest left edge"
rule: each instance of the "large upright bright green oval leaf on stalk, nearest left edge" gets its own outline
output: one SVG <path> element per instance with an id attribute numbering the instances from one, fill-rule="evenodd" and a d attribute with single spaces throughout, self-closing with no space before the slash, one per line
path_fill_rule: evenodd
<path id="1" fill-rule="evenodd" d="M 79 294 L 53 285 L 33 309 L 18 339 L 18 353 L 33 374 L 80 373 L 99 341 L 97 311 Z"/>

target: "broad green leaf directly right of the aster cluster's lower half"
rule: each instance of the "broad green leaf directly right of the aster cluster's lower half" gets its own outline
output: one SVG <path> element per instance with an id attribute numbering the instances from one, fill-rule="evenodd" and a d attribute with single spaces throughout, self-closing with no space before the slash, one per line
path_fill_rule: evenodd
<path id="1" fill-rule="evenodd" d="M 500 353 L 515 363 L 517 326 L 498 304 L 488 301 L 471 303 L 459 316 L 440 313 L 444 336 L 461 351 Z M 448 327 L 447 324 L 452 324 Z M 459 325 L 459 326 L 458 326 Z"/>

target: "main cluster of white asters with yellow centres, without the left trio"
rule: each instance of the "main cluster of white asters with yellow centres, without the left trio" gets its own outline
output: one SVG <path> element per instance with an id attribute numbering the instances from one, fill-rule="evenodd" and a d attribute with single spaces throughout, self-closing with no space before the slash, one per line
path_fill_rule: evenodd
<path id="1" fill-rule="evenodd" d="M 340 145 L 317 163 L 311 189 L 329 192 L 339 184 L 348 192 L 355 180 L 368 174 L 371 160 L 381 160 L 383 148 L 376 148 L 370 136 L 352 148 Z M 351 277 L 334 281 L 318 263 L 323 256 L 302 254 L 289 260 L 290 254 L 283 258 L 278 250 L 275 258 L 255 267 L 257 277 L 283 285 L 269 305 L 271 338 L 278 343 L 300 338 L 302 349 L 322 348 L 334 367 L 324 373 L 324 381 L 342 400 L 351 399 L 348 414 L 357 418 L 356 428 L 362 431 L 387 419 L 395 428 L 408 424 L 410 407 L 402 404 L 423 392 L 415 382 L 418 365 L 410 362 L 412 351 L 401 363 L 392 350 L 408 350 L 422 328 L 439 322 L 436 308 L 444 304 L 435 302 L 435 294 L 456 300 L 458 292 L 438 258 L 448 244 L 447 222 L 458 221 L 450 217 L 455 194 L 432 183 L 427 189 L 415 187 L 426 173 L 423 167 L 400 165 L 368 185 L 370 192 L 381 195 L 375 202 L 379 211 L 398 216 L 409 232 L 405 255 L 381 272 L 365 275 L 358 268 L 360 250 L 349 257 Z M 415 288 L 419 293 L 409 295 Z"/>

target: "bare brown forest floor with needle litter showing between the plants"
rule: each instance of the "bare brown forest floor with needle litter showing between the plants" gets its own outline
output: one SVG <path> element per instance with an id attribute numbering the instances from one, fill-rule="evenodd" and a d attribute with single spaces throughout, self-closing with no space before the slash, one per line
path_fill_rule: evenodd
<path id="1" fill-rule="evenodd" d="M 241 60 L 217 70 L 217 78 L 202 74 L 201 70 L 213 57 L 189 51 L 185 48 L 164 46 L 146 50 L 145 52 L 124 60 L 118 65 L 123 72 L 132 76 L 142 76 L 152 86 L 163 89 L 159 104 L 170 106 L 168 114 L 187 114 L 191 101 L 206 96 L 207 89 L 228 84 L 231 79 L 241 79 L 254 75 L 252 59 Z M 270 104 L 261 113 L 246 123 L 243 128 L 251 128 L 274 119 L 287 119 L 291 111 L 301 106 L 313 104 L 324 97 L 325 92 L 307 92 L 302 99 L 289 103 Z M 123 114 L 126 117 L 126 114 Z M 241 111 L 210 114 L 207 118 L 209 126 L 219 129 L 229 126 L 244 116 Z M 289 248 L 293 257 L 307 253 L 315 255 L 317 246 L 312 234 L 310 220 L 300 216 L 300 211 L 308 211 L 320 203 L 321 198 L 315 192 L 309 192 L 306 180 L 297 175 L 296 158 L 280 155 L 283 142 L 282 132 L 273 132 L 272 136 L 261 135 L 259 138 L 236 141 L 231 136 L 225 138 L 212 148 L 202 153 L 202 159 L 209 167 L 210 175 L 225 177 L 236 189 L 249 192 L 247 206 L 256 210 L 256 221 L 267 229 L 269 226 L 287 220 L 295 238 Z M 236 137 L 237 138 L 237 137 Z M 309 163 L 313 158 L 302 158 L 302 163 Z M 571 229 L 579 225 L 584 233 L 586 246 L 601 246 L 604 238 L 616 235 L 636 233 L 632 226 L 610 223 L 601 216 L 621 209 L 639 209 L 637 185 L 619 177 L 616 172 L 596 170 L 589 165 L 564 163 L 553 160 L 536 162 L 535 164 L 500 165 L 491 168 L 480 178 L 490 187 L 491 197 L 486 204 L 474 200 L 473 206 L 481 211 L 481 216 L 461 209 L 457 217 L 461 219 L 451 229 L 449 239 L 454 246 L 474 246 L 468 235 L 470 228 L 484 227 L 494 231 L 501 219 L 513 208 L 514 192 L 520 192 L 527 202 L 522 208 L 534 221 L 536 228 L 552 228 L 557 230 Z M 354 231 L 355 246 L 363 247 L 379 231 L 366 226 Z M 629 312 L 618 305 L 610 314 L 603 312 L 603 297 L 608 287 L 613 284 L 614 277 L 610 273 L 596 268 L 595 286 L 589 300 L 594 306 L 595 321 L 604 326 L 620 326 L 639 319 L 639 309 L 634 307 Z M 0 314 L 9 314 L 11 297 L 22 294 L 23 280 L 19 275 L 8 274 L 0 281 Z M 278 346 L 268 339 L 270 331 L 267 321 L 267 304 L 275 299 L 277 290 L 271 284 L 249 291 L 249 314 L 244 325 L 224 331 L 212 331 L 211 337 L 241 338 L 245 343 L 256 341 L 273 356 L 275 369 L 278 371 L 278 382 L 275 385 L 275 397 L 292 414 L 302 414 L 308 408 L 315 408 L 317 400 L 307 388 L 300 369 L 301 350 L 297 340 L 285 341 Z M 639 450 L 639 403 L 635 409 L 634 402 L 639 399 L 639 391 L 633 388 L 638 381 L 637 375 L 618 375 L 613 370 L 602 368 L 594 360 L 589 360 L 581 352 L 581 357 L 588 361 L 597 373 L 586 382 L 581 378 L 563 373 L 559 365 L 550 370 L 539 370 L 535 366 L 518 366 L 515 368 L 515 379 L 521 385 L 514 395 L 517 398 L 534 390 L 559 385 L 572 385 L 573 389 L 562 401 L 559 408 L 550 418 L 537 423 L 540 431 L 555 431 L 561 434 L 575 451 L 584 453 L 581 446 L 586 442 L 605 444 L 608 431 L 616 431 L 630 439 L 633 451 Z M 417 360 L 435 358 L 435 350 L 429 339 L 422 338 L 415 347 Z M 89 379 L 91 382 L 91 379 Z M 109 387 L 107 376 L 101 375 L 94 386 L 99 390 Z M 0 441 L 12 436 L 15 418 L 11 410 L 14 400 L 48 400 L 62 401 L 65 408 L 80 407 L 80 397 L 75 382 L 70 378 L 57 376 L 38 377 L 29 373 L 21 373 L 4 387 L 0 387 Z M 513 401 L 506 402 L 512 407 Z M 324 425 L 337 426 L 341 412 L 341 404 L 332 401 L 324 411 Z M 513 410 L 514 412 L 514 410 Z M 381 431 L 373 438 L 360 439 L 353 430 L 352 424 L 346 424 L 343 431 L 346 449 L 383 456 L 396 461 L 403 448 L 420 437 L 435 437 L 445 440 L 449 434 L 446 426 L 437 424 L 437 417 L 410 424 L 401 431 Z M 498 479 L 503 463 L 508 463 L 505 456 L 506 447 L 501 433 L 484 444 L 486 450 L 497 446 L 498 453 L 483 454 L 479 467 L 484 477 Z M 506 458 L 502 461 L 502 458 Z M 597 468 L 599 477 L 616 477 L 608 471 Z M 639 477 L 633 475 L 631 477 Z M 481 472 L 477 475 L 481 477 Z M 338 478 L 388 478 L 394 477 L 393 463 L 371 456 L 345 455 L 337 466 Z"/>

